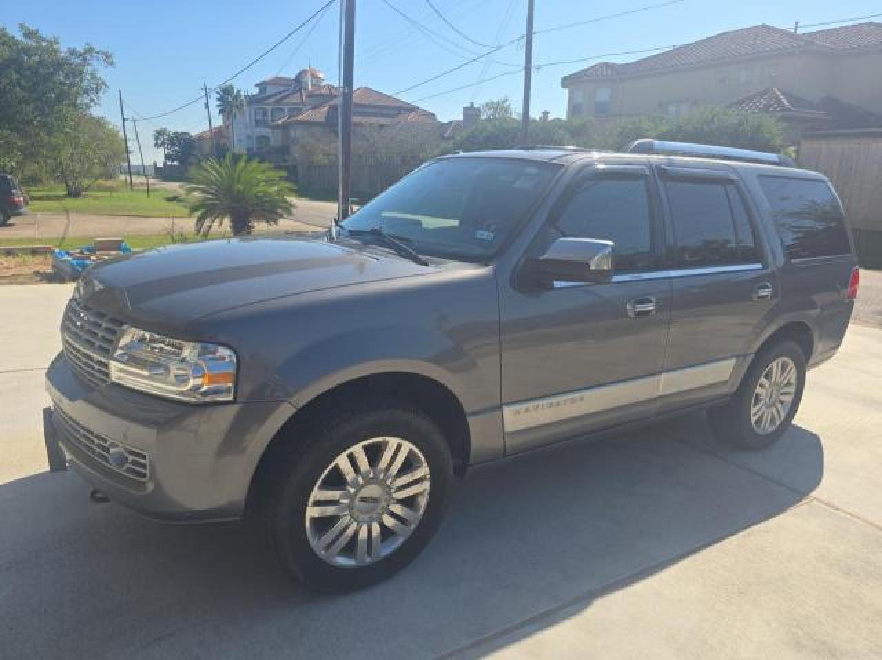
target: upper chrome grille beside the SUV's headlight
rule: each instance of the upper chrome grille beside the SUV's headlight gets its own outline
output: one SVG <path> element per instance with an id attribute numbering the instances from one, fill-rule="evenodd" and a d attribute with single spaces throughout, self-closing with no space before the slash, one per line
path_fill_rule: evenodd
<path id="1" fill-rule="evenodd" d="M 123 321 L 71 298 L 61 326 L 64 356 L 80 378 L 95 387 L 107 385 L 108 361 Z"/>

